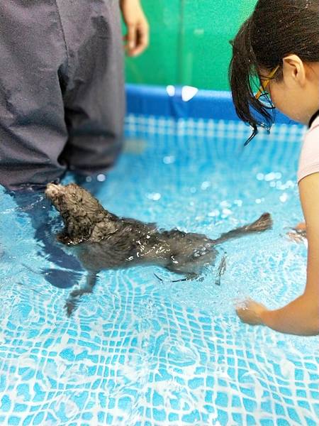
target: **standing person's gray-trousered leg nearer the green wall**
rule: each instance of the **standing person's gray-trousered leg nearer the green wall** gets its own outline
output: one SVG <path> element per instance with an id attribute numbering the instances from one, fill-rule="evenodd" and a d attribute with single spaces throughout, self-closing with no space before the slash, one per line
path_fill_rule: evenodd
<path id="1" fill-rule="evenodd" d="M 118 0 L 57 0 L 69 55 L 64 102 L 69 140 L 61 160 L 89 175 L 121 151 L 123 42 Z"/>

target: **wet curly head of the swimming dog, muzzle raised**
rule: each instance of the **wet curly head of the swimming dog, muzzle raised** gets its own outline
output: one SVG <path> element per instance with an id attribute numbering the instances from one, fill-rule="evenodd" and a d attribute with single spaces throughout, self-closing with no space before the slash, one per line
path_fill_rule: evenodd
<path id="1" fill-rule="evenodd" d="M 60 212 L 69 236 L 88 238 L 96 222 L 105 214 L 99 201 L 75 183 L 49 183 L 45 195 Z"/>

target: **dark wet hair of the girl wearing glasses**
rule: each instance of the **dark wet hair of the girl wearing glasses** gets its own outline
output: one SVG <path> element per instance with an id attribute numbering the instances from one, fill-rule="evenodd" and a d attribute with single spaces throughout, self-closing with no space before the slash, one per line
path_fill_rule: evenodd
<path id="1" fill-rule="evenodd" d="M 319 61 L 319 1 L 259 0 L 231 44 L 230 88 L 237 115 L 253 128 L 248 143 L 258 126 L 269 130 L 274 122 L 272 107 L 254 97 L 254 77 L 260 82 L 260 70 L 270 72 L 279 65 L 274 78 L 280 79 L 282 59 L 288 55 L 298 55 L 303 62 Z"/>

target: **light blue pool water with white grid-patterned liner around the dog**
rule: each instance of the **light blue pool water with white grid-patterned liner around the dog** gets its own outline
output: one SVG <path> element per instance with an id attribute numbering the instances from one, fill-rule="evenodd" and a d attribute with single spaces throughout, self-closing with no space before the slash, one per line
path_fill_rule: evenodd
<path id="1" fill-rule="evenodd" d="M 47 251 L 57 213 L 1 190 L 1 425 L 318 425 L 318 337 L 250 327 L 233 310 L 303 290 L 306 244 L 286 237 L 302 219 L 303 131 L 279 124 L 242 148 L 249 129 L 233 119 L 129 114 L 125 152 L 96 184 L 104 207 L 213 238 L 263 212 L 274 226 L 223 244 L 220 286 L 213 269 L 179 283 L 151 266 L 103 271 L 70 319 L 65 286 L 84 273 Z"/>

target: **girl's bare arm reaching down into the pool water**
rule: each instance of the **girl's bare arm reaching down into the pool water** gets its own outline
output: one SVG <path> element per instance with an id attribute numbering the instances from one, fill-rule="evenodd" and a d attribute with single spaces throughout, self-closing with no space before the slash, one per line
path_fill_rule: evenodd
<path id="1" fill-rule="evenodd" d="M 319 334 L 319 173 L 306 176 L 299 183 L 308 238 L 307 283 L 303 295 L 281 309 L 267 310 L 247 301 L 237 314 L 248 324 L 264 324 L 289 334 Z"/>

